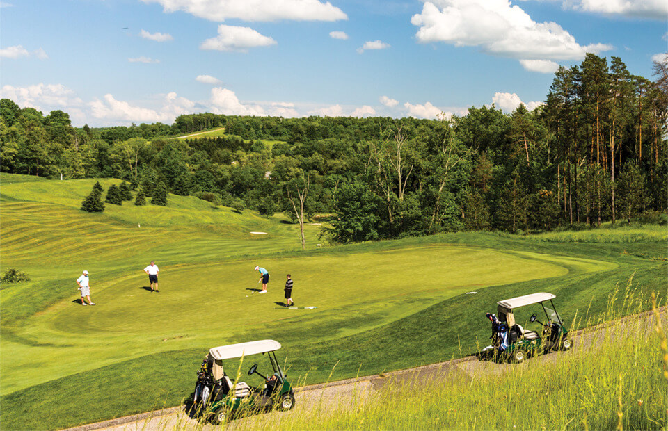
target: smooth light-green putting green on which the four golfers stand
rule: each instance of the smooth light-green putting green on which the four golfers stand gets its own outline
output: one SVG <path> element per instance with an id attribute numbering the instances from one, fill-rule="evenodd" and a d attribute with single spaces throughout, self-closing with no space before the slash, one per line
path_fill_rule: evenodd
<path id="1" fill-rule="evenodd" d="M 155 352 L 248 341 L 255 329 L 308 325 L 319 341 L 363 332 L 466 291 L 568 272 L 545 258 L 431 245 L 244 259 L 161 267 L 160 293 L 145 290 L 148 277 L 140 269 L 101 290 L 93 288 L 95 307 L 72 302 L 77 298 L 74 291 L 72 298 L 15 330 L 3 342 L 2 391 Z M 256 261 L 271 271 L 266 295 L 250 290 L 259 286 L 253 271 Z M 317 309 L 276 304 L 283 302 L 287 273 L 295 281 L 295 302 Z M 344 324 L 348 319 L 356 324 Z M 26 364 L 35 358 L 48 360 L 40 361 L 38 375 L 25 375 Z"/>

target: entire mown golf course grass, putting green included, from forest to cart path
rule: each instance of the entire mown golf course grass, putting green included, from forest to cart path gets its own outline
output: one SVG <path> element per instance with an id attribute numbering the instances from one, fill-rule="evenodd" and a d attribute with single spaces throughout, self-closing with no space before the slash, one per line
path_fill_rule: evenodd
<path id="1" fill-rule="evenodd" d="M 0 296 L 3 428 L 65 427 L 174 405 L 212 345 L 278 339 L 292 379 L 308 373 L 308 382 L 322 382 L 337 363 L 333 378 L 344 378 L 475 350 L 488 338 L 485 311 L 514 295 L 557 293 L 571 319 L 603 311 L 615 284 L 633 273 L 643 294 L 665 292 L 660 234 L 614 243 L 607 231 L 605 245 L 558 234 L 449 234 L 316 250 L 319 227 L 308 226 L 310 250 L 301 252 L 299 227 L 278 215 L 175 195 L 166 208 L 125 202 L 88 214 L 78 208 L 94 180 L 23 178 L 0 176 L 1 268 L 32 278 Z M 142 268 L 151 260 L 160 293 L 145 290 Z M 255 265 L 271 273 L 267 295 L 252 291 Z M 83 269 L 95 307 L 74 302 Z M 276 304 L 287 273 L 296 304 L 317 309 Z M 84 394 L 91 408 L 71 414 Z M 48 405 L 49 414 L 26 418 L 26 403 Z"/>

